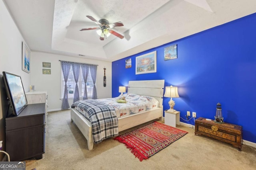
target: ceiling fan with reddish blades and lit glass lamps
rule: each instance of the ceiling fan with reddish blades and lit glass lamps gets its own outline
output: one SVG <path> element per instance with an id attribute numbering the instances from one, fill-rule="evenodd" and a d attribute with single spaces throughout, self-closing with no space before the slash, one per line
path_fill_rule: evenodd
<path id="1" fill-rule="evenodd" d="M 105 19 L 101 19 L 101 20 L 97 21 L 92 16 L 86 16 L 86 17 L 89 18 L 90 20 L 94 21 L 100 27 L 83 28 L 83 29 L 80 29 L 80 31 L 96 29 L 98 35 L 100 35 L 100 40 L 104 40 L 104 38 L 108 37 L 110 34 L 113 34 L 120 39 L 124 38 L 123 35 L 117 33 L 116 31 L 113 31 L 111 29 L 114 27 L 124 26 L 124 24 L 122 22 L 119 21 L 119 22 L 115 22 L 115 23 L 109 23 L 108 20 L 105 20 Z"/>

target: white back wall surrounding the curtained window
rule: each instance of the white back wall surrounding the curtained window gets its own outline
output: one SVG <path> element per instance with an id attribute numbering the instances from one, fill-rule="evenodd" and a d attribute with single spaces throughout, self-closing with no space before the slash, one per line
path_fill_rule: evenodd
<path id="1" fill-rule="evenodd" d="M 80 57 L 69 57 L 64 55 L 56 55 L 37 51 L 32 51 L 31 55 L 33 56 L 31 61 L 31 83 L 32 85 L 35 85 L 36 91 L 47 91 L 49 106 L 48 111 L 60 110 L 62 106 L 62 100 L 60 100 L 61 66 L 59 60 L 88 64 L 98 64 L 96 80 L 98 98 L 112 97 L 111 62 L 90 60 Z M 42 74 L 42 62 L 51 63 L 51 74 Z M 104 67 L 106 68 L 106 87 L 103 87 Z M 72 103 L 73 100 L 69 100 L 70 106 Z"/>

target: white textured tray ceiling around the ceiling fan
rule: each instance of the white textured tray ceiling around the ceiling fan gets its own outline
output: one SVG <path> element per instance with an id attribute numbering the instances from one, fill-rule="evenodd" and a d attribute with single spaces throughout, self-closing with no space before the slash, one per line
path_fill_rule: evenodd
<path id="1" fill-rule="evenodd" d="M 255 0 L 5 0 L 26 43 L 43 51 L 115 61 L 253 14 Z M 122 21 L 100 40 L 96 20 Z M 80 56 L 81 57 L 81 56 Z"/>

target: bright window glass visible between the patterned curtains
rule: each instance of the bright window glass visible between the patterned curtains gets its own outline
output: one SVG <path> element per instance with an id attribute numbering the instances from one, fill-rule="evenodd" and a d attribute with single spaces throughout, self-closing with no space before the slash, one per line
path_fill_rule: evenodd
<path id="1" fill-rule="evenodd" d="M 84 86 L 85 86 L 85 84 L 84 84 L 84 78 L 82 76 L 83 76 L 82 68 L 80 68 L 79 79 L 78 79 L 78 82 L 77 82 L 80 98 L 84 97 Z M 62 84 L 61 84 L 61 98 L 63 98 L 63 96 L 64 96 L 64 88 L 65 88 L 65 81 L 64 81 L 62 69 L 61 69 L 61 80 L 62 80 Z M 70 98 L 74 98 L 76 82 L 75 82 L 75 79 L 74 79 L 72 66 L 70 67 L 70 71 L 69 71 L 67 87 L 68 87 L 68 98 L 69 99 Z M 87 96 L 88 97 L 92 97 L 93 81 L 92 81 L 92 76 L 91 76 L 90 69 L 89 69 L 89 73 L 88 73 L 88 77 L 87 77 L 86 88 L 87 88 Z"/>

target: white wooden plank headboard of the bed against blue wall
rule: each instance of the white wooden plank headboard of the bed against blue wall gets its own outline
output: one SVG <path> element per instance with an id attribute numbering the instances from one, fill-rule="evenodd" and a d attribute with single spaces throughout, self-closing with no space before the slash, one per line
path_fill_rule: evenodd
<path id="1" fill-rule="evenodd" d="M 164 80 L 129 81 L 128 93 L 152 96 L 159 101 L 159 105 L 160 107 L 162 107 L 164 95 Z"/>

